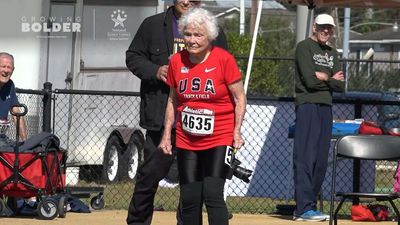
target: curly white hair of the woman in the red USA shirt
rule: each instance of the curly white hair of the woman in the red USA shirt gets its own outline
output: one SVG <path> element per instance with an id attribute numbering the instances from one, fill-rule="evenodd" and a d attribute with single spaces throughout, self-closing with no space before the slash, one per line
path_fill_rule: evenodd
<path id="1" fill-rule="evenodd" d="M 205 26 L 207 37 L 211 41 L 215 40 L 218 36 L 217 18 L 211 12 L 203 8 L 193 7 L 181 16 L 178 21 L 178 30 L 181 35 L 183 35 L 183 30 L 189 24 L 196 27 Z"/>

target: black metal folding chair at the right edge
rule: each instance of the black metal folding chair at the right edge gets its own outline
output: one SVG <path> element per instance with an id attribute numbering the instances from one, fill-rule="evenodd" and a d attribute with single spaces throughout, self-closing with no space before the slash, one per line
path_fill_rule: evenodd
<path id="1" fill-rule="evenodd" d="M 332 165 L 332 186 L 330 203 L 329 225 L 334 222 L 337 225 L 338 212 L 347 199 L 359 200 L 370 198 L 376 201 L 389 201 L 397 216 L 397 224 L 400 225 L 400 214 L 393 200 L 400 197 L 398 193 L 366 193 L 366 192 L 336 192 L 336 167 L 338 158 L 353 160 L 399 160 L 400 159 L 400 137 L 390 135 L 348 135 L 339 138 L 335 144 L 333 165 Z M 356 177 L 353 177 L 356 179 Z M 353 187 L 354 190 L 354 187 Z M 341 198 L 335 212 L 335 196 Z"/>

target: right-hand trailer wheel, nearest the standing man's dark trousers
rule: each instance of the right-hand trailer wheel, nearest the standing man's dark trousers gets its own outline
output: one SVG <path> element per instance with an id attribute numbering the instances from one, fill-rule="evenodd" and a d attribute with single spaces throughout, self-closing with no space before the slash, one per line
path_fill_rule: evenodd
<path id="1" fill-rule="evenodd" d="M 143 134 L 141 134 L 143 135 Z M 140 134 L 134 133 L 129 140 L 128 148 L 124 157 L 124 178 L 134 180 L 137 170 L 143 161 L 144 138 Z"/>

